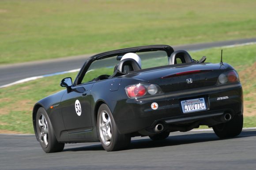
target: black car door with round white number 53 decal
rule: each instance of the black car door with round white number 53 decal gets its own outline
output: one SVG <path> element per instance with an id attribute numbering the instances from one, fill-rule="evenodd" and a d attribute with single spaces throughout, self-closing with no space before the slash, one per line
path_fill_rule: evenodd
<path id="1" fill-rule="evenodd" d="M 62 117 L 69 134 L 92 130 L 90 113 L 90 90 L 93 83 L 72 87 L 62 99 Z"/>

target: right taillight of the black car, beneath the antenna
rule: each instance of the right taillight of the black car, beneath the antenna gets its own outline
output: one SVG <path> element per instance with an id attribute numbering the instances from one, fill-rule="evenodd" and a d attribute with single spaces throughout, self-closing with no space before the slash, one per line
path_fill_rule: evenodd
<path id="1" fill-rule="evenodd" d="M 234 83 L 239 82 L 239 76 L 236 70 L 231 70 L 229 72 L 224 72 L 218 76 L 218 83 L 225 84 L 225 83 Z"/>

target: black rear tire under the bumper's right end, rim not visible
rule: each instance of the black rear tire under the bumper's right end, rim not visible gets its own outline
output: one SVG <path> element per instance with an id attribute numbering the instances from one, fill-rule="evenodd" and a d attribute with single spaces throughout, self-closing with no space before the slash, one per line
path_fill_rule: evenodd
<path id="1" fill-rule="evenodd" d="M 215 125 L 212 128 L 219 138 L 235 137 L 241 133 L 243 123 L 243 115 L 239 115 L 234 116 L 229 122 Z"/>

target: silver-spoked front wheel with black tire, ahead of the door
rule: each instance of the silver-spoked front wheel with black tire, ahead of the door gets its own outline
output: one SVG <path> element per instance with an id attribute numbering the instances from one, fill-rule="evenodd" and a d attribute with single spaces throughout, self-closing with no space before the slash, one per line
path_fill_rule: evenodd
<path id="1" fill-rule="evenodd" d="M 36 131 L 40 145 L 46 153 L 61 152 L 63 150 L 65 144 L 57 141 L 53 132 L 52 123 L 45 109 L 42 107 L 37 112 Z"/>

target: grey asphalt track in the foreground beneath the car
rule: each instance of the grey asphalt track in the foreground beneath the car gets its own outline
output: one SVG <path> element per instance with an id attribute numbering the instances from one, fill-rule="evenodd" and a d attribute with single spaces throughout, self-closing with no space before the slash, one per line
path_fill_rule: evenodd
<path id="1" fill-rule="evenodd" d="M 46 154 L 34 135 L 0 134 L 0 169 L 255 170 L 256 129 L 220 140 L 213 131 L 174 132 L 163 141 L 135 137 L 130 148 L 106 152 L 99 143 L 68 144 Z"/>

